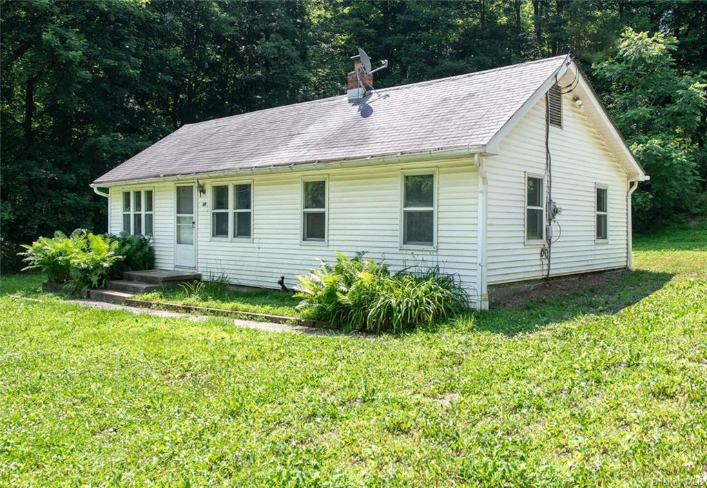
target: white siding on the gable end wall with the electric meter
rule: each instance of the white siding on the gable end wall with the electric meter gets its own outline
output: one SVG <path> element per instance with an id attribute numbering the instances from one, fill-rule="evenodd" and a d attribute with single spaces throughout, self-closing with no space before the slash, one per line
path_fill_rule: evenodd
<path id="1" fill-rule="evenodd" d="M 563 97 L 563 128 L 549 128 L 552 199 L 562 207 L 553 225 L 551 274 L 625 267 L 626 173 L 571 95 Z M 498 155 L 484 161 L 489 175 L 488 282 L 540 278 L 543 266 L 547 271 L 542 245 L 524 243 L 525 173 L 545 175 L 544 97 L 501 141 Z M 595 182 L 609 189 L 609 239 L 602 245 L 595 240 Z"/>

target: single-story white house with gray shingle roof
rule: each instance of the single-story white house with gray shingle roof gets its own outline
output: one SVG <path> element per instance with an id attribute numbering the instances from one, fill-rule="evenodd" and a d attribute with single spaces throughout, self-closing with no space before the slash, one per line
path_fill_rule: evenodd
<path id="1" fill-rule="evenodd" d="M 247 286 L 337 250 L 439 264 L 479 308 L 501 284 L 631 269 L 648 176 L 570 56 L 363 91 L 354 71 L 347 95 L 181 127 L 93 182 L 109 231 Z"/>

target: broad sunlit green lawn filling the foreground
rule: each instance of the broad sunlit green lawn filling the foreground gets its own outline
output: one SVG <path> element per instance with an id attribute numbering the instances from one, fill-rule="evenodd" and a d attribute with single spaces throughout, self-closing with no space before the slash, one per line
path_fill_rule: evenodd
<path id="1" fill-rule="evenodd" d="M 636 239 L 636 267 L 375 338 L 86 309 L 3 277 L 0 484 L 696 483 L 707 226 Z"/>

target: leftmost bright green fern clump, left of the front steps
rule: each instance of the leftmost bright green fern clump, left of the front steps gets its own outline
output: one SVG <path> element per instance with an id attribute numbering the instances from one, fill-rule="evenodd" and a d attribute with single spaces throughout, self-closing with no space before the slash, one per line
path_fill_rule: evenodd
<path id="1" fill-rule="evenodd" d="M 66 237 L 61 231 L 54 233 L 53 238 L 40 237 L 32 245 L 23 245 L 25 252 L 23 261 L 27 263 L 26 269 L 42 269 L 47 274 L 47 280 L 57 283 L 69 281 L 71 257 L 76 252 L 76 238 Z"/>

